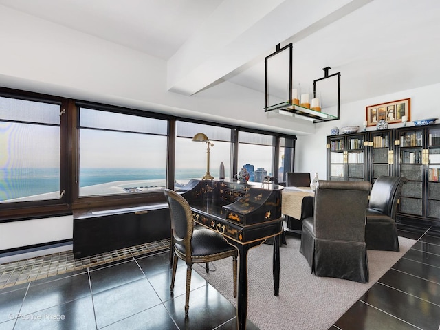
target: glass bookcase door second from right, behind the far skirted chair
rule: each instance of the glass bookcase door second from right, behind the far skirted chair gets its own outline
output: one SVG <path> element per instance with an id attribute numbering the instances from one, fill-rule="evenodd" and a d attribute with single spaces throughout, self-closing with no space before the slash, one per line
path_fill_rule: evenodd
<path id="1" fill-rule="evenodd" d="M 397 134 L 402 186 L 399 212 L 423 216 L 423 129 L 402 129 Z"/>

